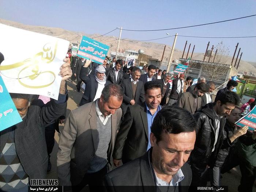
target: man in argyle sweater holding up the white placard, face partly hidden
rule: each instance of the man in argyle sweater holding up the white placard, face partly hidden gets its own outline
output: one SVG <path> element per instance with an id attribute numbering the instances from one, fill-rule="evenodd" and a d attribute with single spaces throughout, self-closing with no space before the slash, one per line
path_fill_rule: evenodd
<path id="1" fill-rule="evenodd" d="M 64 113 L 65 80 L 72 75 L 69 63 L 61 66 L 60 75 L 58 101 L 51 99 L 44 105 L 37 99 L 31 103 L 32 95 L 11 93 L 22 122 L 0 132 L 0 191 L 27 191 L 31 179 L 46 178 L 45 126 Z"/>

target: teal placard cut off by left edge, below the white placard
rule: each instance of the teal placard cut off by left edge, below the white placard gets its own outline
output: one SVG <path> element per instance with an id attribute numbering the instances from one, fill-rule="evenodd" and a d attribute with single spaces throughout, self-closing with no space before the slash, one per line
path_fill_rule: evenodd
<path id="1" fill-rule="evenodd" d="M 4 81 L 0 76 L 0 131 L 22 121 L 20 115 L 8 93 Z"/>

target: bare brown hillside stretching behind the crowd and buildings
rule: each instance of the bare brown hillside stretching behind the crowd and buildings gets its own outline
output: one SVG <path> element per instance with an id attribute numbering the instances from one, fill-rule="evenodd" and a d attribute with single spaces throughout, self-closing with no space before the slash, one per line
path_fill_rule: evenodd
<path id="1" fill-rule="evenodd" d="M 62 39 L 67 39 L 70 42 L 77 42 L 77 41 L 80 42 L 80 35 L 86 35 L 87 37 L 100 36 L 100 34 L 86 34 L 86 33 L 82 33 L 82 32 L 68 31 L 68 30 L 54 28 L 54 27 L 24 25 L 22 23 L 17 23 L 17 22 L 13 22 L 13 21 L 9 21 L 9 20 L 4 20 L 4 19 L 1 19 L 1 21 L 5 25 L 10 25 L 10 26 L 17 27 L 20 29 L 25 29 L 25 30 L 34 31 L 37 33 L 51 35 L 51 36 L 62 38 Z M 106 45 L 109 45 L 110 52 L 116 51 L 117 40 L 115 37 L 102 36 L 102 37 L 96 38 L 96 40 L 103 42 Z M 125 40 L 129 40 L 129 41 L 125 41 Z M 164 44 L 158 44 L 158 43 L 154 43 L 154 42 L 144 42 L 144 41 L 138 42 L 138 41 L 132 41 L 130 39 L 125 39 L 125 40 L 120 41 L 120 50 L 132 49 L 132 50 L 138 51 L 139 49 L 143 49 L 144 54 L 151 55 L 155 59 L 160 60 L 162 57 L 163 49 L 165 46 Z M 171 46 L 166 46 L 165 56 L 164 56 L 163 60 L 166 60 L 167 56 L 169 57 L 170 51 L 171 51 Z M 175 49 L 174 54 L 173 54 L 173 59 L 174 60 L 179 59 L 182 56 L 182 52 L 183 52 L 183 50 Z M 185 53 L 184 55 L 186 56 L 187 53 Z M 191 55 L 191 53 L 189 53 L 189 56 L 190 55 Z M 192 59 L 203 60 L 203 56 L 204 56 L 204 53 L 193 53 Z M 232 57 L 227 56 L 226 64 L 230 64 L 231 60 L 232 60 Z M 239 67 L 238 67 L 238 71 L 240 73 L 244 73 L 244 71 L 248 71 L 248 75 L 251 75 L 253 71 L 256 71 L 255 67 L 256 67 L 256 62 L 248 62 L 248 61 L 241 60 Z"/>

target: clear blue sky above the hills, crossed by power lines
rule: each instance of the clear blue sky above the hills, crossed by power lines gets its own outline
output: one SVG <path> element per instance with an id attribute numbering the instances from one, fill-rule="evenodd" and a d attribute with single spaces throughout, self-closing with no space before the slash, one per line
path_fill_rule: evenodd
<path id="1" fill-rule="evenodd" d="M 87 34 L 104 34 L 116 27 L 151 30 L 198 25 L 256 14 L 255 0 L 0 0 L 0 18 L 26 25 L 60 27 Z M 1 33 L 1 32 L 0 32 Z M 133 32 L 123 31 L 121 38 L 135 40 L 154 39 L 170 35 L 204 37 L 256 36 L 256 16 L 225 23 L 187 29 Z M 118 37 L 115 30 L 108 35 Z M 205 52 L 206 45 L 223 41 L 243 52 L 242 60 L 256 62 L 256 38 L 208 39 L 178 37 L 176 48 L 183 50 L 185 41 L 195 52 Z M 152 42 L 172 45 L 173 38 Z"/>

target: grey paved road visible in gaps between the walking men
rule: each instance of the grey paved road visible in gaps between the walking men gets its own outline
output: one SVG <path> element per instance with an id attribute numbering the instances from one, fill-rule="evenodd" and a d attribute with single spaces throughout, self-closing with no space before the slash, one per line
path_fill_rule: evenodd
<path id="1" fill-rule="evenodd" d="M 71 83 L 71 81 L 67 81 L 68 84 L 68 108 L 67 108 L 67 115 L 71 110 L 74 110 L 78 107 L 78 104 L 80 102 L 80 99 L 82 98 L 83 92 L 81 91 L 78 93 L 76 91 L 76 86 L 75 83 Z M 60 130 L 63 129 L 63 125 L 60 125 Z M 47 178 L 51 179 L 56 179 L 57 177 L 57 150 L 58 150 L 58 142 L 59 142 L 59 135 L 60 133 L 55 132 L 55 144 L 54 148 L 50 157 L 50 161 L 52 163 L 52 170 L 50 173 L 47 174 Z M 231 173 L 225 173 L 222 175 L 222 184 L 227 185 L 229 187 L 229 192 L 236 192 L 237 187 L 240 184 L 240 178 L 241 178 L 241 173 L 239 166 L 235 167 L 234 169 L 231 170 Z M 253 188 L 253 191 L 256 191 L 256 182 Z"/>

